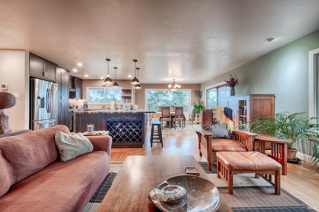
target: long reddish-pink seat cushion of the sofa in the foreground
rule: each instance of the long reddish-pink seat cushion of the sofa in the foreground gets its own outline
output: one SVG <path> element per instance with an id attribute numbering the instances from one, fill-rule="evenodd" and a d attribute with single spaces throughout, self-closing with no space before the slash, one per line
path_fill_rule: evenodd
<path id="1" fill-rule="evenodd" d="M 56 161 L 13 185 L 1 212 L 82 212 L 110 170 L 110 156 L 93 151 Z"/>

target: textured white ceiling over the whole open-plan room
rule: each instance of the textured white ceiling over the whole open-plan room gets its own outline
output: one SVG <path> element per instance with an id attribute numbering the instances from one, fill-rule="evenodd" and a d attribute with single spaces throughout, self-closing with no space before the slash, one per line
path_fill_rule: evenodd
<path id="1" fill-rule="evenodd" d="M 114 66 L 130 79 L 137 59 L 141 83 L 197 84 L 319 30 L 318 9 L 319 0 L 1 0 L 0 49 L 82 79 L 105 78 L 106 58 L 112 79 Z"/>

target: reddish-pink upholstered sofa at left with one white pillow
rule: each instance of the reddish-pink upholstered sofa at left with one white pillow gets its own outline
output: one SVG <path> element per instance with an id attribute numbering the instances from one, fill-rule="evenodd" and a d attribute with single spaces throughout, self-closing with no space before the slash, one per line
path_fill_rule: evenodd
<path id="1" fill-rule="evenodd" d="M 88 136 L 93 151 L 60 161 L 64 125 L 0 138 L 0 212 L 81 212 L 110 170 L 110 136 Z"/>

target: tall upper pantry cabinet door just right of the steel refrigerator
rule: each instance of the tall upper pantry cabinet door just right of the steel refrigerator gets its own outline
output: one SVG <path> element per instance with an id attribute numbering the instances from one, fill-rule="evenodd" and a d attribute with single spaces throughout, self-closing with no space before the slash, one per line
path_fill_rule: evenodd
<path id="1" fill-rule="evenodd" d="M 58 84 L 58 101 L 69 101 L 69 72 L 56 68 L 56 83 Z"/>

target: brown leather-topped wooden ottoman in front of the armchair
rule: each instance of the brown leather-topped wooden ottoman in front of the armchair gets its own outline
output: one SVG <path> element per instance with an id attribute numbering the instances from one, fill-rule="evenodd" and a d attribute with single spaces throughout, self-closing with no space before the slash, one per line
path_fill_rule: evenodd
<path id="1" fill-rule="evenodd" d="M 222 178 L 233 194 L 233 176 L 243 173 L 255 173 L 275 186 L 275 194 L 280 195 L 281 164 L 260 152 L 217 152 L 217 178 Z M 273 176 L 275 182 L 273 182 Z"/>

